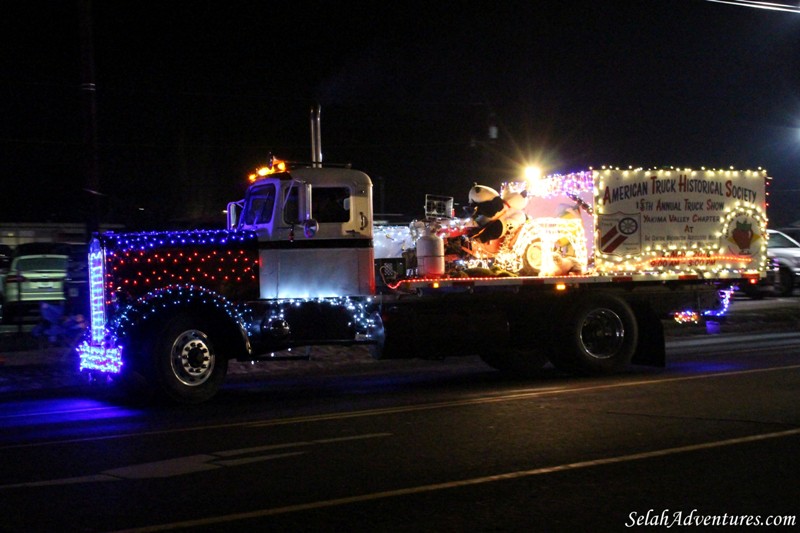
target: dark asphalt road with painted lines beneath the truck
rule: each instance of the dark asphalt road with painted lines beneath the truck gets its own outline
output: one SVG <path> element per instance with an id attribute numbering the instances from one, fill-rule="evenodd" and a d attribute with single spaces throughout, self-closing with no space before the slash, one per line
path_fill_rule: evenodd
<path id="1" fill-rule="evenodd" d="M 797 530 L 799 353 L 789 332 L 706 336 L 671 340 L 667 369 L 602 379 L 509 380 L 465 358 L 238 379 L 191 408 L 6 402 L 0 516 L 8 531 Z"/>

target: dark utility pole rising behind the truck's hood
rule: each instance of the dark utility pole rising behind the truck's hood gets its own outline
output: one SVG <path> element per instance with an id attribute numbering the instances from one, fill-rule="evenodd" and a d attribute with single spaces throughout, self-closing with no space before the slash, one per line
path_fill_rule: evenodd
<path id="1" fill-rule="evenodd" d="M 100 226 L 100 171 L 97 154 L 97 101 L 94 83 L 94 45 L 92 35 L 92 0 L 78 0 L 81 25 L 81 100 L 84 110 L 83 151 L 86 172 L 87 242 Z"/>

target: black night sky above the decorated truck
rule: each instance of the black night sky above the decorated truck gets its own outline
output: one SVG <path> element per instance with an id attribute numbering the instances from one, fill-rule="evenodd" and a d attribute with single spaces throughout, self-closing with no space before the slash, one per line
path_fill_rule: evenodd
<path id="1" fill-rule="evenodd" d="M 80 5 L 5 6 L 0 222 L 87 217 Z M 91 14 L 102 222 L 222 224 L 269 154 L 310 159 L 315 102 L 324 160 L 367 172 L 383 212 L 421 216 L 426 193 L 465 201 L 537 162 L 763 167 L 771 224 L 800 219 L 800 13 L 94 0 Z"/>

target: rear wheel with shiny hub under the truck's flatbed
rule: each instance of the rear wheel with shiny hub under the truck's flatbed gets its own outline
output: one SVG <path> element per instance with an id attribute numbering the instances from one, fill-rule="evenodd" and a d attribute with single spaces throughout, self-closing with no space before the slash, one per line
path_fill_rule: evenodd
<path id="1" fill-rule="evenodd" d="M 567 308 L 560 344 L 551 360 L 559 370 L 598 375 L 630 364 L 639 341 L 636 317 L 627 302 L 610 294 L 588 295 Z"/>

